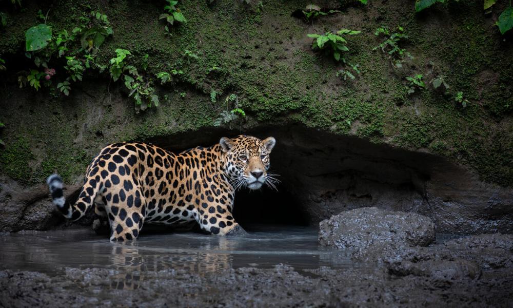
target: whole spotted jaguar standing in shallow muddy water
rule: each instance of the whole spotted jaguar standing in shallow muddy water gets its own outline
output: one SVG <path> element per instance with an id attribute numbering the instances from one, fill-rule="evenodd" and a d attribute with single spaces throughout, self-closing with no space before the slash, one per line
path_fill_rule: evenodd
<path id="1" fill-rule="evenodd" d="M 86 171 L 76 203 L 66 201 L 62 179 L 47 179 L 53 203 L 77 220 L 94 205 L 94 229 L 110 226 L 110 240 L 137 238 L 144 223 L 197 223 L 210 234 L 242 235 L 233 219 L 235 190 L 274 187 L 267 174 L 275 140 L 250 136 L 221 138 L 208 148 L 175 155 L 145 143 L 106 146 Z"/>

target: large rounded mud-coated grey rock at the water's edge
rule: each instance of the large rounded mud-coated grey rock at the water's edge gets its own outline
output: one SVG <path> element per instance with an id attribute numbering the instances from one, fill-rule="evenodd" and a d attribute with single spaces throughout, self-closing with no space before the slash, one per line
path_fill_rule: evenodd
<path id="1" fill-rule="evenodd" d="M 321 245 L 354 249 L 357 260 L 378 260 L 376 253 L 427 246 L 435 240 L 435 224 L 428 217 L 377 207 L 343 211 L 319 225 Z"/>

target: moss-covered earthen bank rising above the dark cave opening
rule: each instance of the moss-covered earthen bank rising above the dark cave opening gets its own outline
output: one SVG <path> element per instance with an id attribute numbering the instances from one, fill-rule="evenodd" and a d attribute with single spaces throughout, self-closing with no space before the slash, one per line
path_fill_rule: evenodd
<path id="1" fill-rule="evenodd" d="M 7 26 L 0 29 L 0 55 L 8 70 L 1 73 L 0 171 L 18 181 L 40 182 L 54 170 L 66 181 L 78 181 L 98 149 L 119 140 L 195 130 L 212 125 L 229 94 L 238 95 L 248 119 L 243 131 L 267 123 L 300 122 L 339 134 L 355 134 L 373 142 L 430 151 L 476 170 L 488 182 L 513 185 L 513 121 L 511 97 L 513 46 L 493 25 L 501 4 L 484 14 L 482 3 L 449 2 L 422 14 L 413 1 L 322 2 L 342 8 L 313 23 L 292 16 L 307 1 L 184 0 L 179 7 L 188 22 L 166 36 L 160 1 L 23 2 L 7 7 Z M 158 89 L 161 106 L 135 114 L 121 83 L 108 74 L 86 73 L 72 85 L 70 97 L 48 90 L 18 89 L 16 73 L 33 67 L 24 59 L 24 33 L 40 23 L 36 12 L 48 13 L 54 31 L 70 31 L 91 10 L 109 16 L 114 35 L 97 54 L 107 63 L 116 48 L 132 52 L 141 65 L 149 55 L 148 74 L 181 69 L 172 86 Z M 386 54 L 372 50 L 381 38 L 373 32 L 401 25 L 409 36 L 402 43 L 414 59 L 393 68 Z M 310 49 L 307 33 L 361 30 L 348 40 L 347 59 L 361 66 L 354 81 L 336 77 L 342 64 Z M 184 56 L 185 51 L 199 59 Z M 59 67 L 58 60 L 55 66 Z M 217 66 L 219 69 L 210 70 Z M 450 95 L 431 86 L 407 94 L 405 76 L 422 73 L 428 82 L 445 75 Z M 56 78 L 65 71 L 57 69 Z M 212 103 L 210 92 L 219 93 Z M 463 91 L 470 104 L 462 108 L 453 93 Z M 185 93 L 182 97 L 181 93 Z M 238 133 L 238 130 L 233 132 Z"/>

